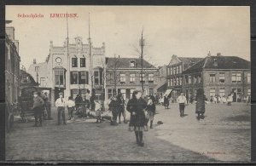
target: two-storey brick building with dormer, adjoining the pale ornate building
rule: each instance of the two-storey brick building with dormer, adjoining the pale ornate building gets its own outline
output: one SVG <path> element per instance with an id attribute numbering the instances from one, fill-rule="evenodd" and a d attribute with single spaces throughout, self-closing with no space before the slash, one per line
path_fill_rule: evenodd
<path id="1" fill-rule="evenodd" d="M 144 89 L 145 94 L 154 94 L 158 69 L 143 60 L 143 73 L 141 71 L 141 59 L 106 58 L 107 99 L 119 93 L 125 99 L 131 99 L 135 89 Z"/>

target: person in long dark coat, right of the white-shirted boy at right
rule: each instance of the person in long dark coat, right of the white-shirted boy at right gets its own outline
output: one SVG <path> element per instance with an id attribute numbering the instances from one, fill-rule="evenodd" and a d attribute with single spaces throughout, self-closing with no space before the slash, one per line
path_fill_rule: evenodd
<path id="1" fill-rule="evenodd" d="M 206 102 L 205 102 L 205 94 L 203 89 L 197 89 L 197 93 L 195 96 L 196 105 L 195 105 L 195 113 L 198 115 L 197 118 L 204 118 L 204 113 L 206 112 Z"/>

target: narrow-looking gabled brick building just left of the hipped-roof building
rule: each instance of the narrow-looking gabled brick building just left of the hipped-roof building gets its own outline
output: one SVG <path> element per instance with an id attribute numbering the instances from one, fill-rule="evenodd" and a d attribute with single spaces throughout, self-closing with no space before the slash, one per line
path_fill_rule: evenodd
<path id="1" fill-rule="evenodd" d="M 177 99 L 177 95 L 183 88 L 183 71 L 200 60 L 202 58 L 177 57 L 175 54 L 172 55 L 172 60 L 166 67 L 166 80 L 167 94 L 172 92 L 171 96 L 173 100 Z"/>

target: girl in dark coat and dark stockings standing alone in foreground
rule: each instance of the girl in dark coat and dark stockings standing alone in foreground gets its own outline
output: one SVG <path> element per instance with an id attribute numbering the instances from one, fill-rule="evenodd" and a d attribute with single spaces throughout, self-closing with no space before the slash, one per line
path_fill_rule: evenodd
<path id="1" fill-rule="evenodd" d="M 130 127 L 134 127 L 137 145 L 144 146 L 143 129 L 146 124 L 144 109 L 147 107 L 147 102 L 142 98 L 142 92 L 134 90 L 131 100 L 128 101 L 126 109 L 131 112 Z"/>

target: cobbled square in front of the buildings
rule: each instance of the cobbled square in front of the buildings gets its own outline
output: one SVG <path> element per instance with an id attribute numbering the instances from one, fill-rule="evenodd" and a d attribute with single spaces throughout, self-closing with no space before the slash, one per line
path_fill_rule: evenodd
<path id="1" fill-rule="evenodd" d="M 157 106 L 154 129 L 144 132 L 145 146 L 135 143 L 125 123 L 78 121 L 56 126 L 44 121 L 15 123 L 6 136 L 7 160 L 83 161 L 249 161 L 250 106 L 207 105 L 206 117 L 195 118 L 195 105 L 179 117 L 177 104 Z M 53 116 L 56 119 L 55 110 Z M 157 125 L 157 121 L 163 124 Z"/>

